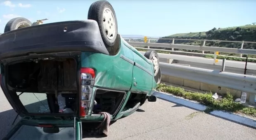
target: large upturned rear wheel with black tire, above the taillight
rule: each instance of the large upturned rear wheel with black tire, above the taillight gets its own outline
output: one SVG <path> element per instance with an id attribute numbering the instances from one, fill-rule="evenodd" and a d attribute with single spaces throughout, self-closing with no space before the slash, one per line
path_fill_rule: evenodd
<path id="1" fill-rule="evenodd" d="M 108 1 L 99 0 L 93 2 L 88 11 L 88 19 L 97 21 L 106 47 L 111 47 L 116 43 L 118 39 L 116 14 Z"/>

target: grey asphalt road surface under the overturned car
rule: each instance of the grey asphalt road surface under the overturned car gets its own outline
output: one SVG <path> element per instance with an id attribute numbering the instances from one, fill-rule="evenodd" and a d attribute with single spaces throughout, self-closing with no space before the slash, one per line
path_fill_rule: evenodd
<path id="1" fill-rule="evenodd" d="M 16 112 L 0 92 L 0 139 L 11 128 Z M 27 100 L 30 100 L 27 98 Z M 40 135 L 27 129 L 19 138 Z M 256 130 L 188 107 L 158 99 L 146 102 L 134 114 L 119 119 L 109 128 L 109 136 L 88 136 L 83 140 L 254 140 Z M 42 139 L 44 140 L 44 139 Z"/>

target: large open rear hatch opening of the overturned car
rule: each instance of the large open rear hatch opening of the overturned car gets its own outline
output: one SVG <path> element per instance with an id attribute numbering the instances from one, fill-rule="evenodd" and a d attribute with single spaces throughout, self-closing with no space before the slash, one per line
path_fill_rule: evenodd
<path id="1" fill-rule="evenodd" d="M 72 57 L 41 57 L 6 65 L 10 97 L 28 113 L 76 113 L 77 61 Z"/>

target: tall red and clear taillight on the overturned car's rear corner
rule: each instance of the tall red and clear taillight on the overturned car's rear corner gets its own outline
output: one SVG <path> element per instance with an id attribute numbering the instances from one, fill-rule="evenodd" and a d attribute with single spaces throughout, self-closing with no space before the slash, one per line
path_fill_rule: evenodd
<path id="1" fill-rule="evenodd" d="M 92 68 L 81 68 L 81 105 L 80 116 L 88 114 L 92 99 L 92 87 L 94 85 L 95 71 Z"/>

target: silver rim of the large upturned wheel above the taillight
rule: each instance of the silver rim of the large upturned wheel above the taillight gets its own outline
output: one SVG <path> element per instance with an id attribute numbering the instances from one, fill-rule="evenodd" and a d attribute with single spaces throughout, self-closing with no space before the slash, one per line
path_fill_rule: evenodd
<path id="1" fill-rule="evenodd" d="M 102 23 L 105 35 L 109 40 L 112 40 L 116 34 L 116 21 L 113 12 L 108 7 L 103 10 Z"/>

